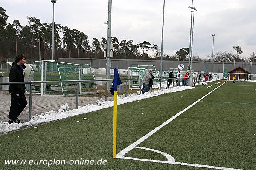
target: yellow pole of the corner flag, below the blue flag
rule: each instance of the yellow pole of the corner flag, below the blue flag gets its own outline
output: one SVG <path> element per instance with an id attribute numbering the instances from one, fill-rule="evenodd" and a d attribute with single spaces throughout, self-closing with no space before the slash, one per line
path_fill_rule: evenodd
<path id="1" fill-rule="evenodd" d="M 116 128 L 117 128 L 117 91 L 114 91 L 113 158 L 116 158 Z"/>

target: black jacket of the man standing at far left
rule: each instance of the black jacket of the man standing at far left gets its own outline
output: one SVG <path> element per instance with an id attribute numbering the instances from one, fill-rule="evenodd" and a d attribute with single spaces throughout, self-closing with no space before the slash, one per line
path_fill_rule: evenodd
<path id="1" fill-rule="evenodd" d="M 24 82 L 23 70 L 26 68 L 25 65 L 17 65 L 16 62 L 12 63 L 12 67 L 9 74 L 9 82 Z M 13 84 L 10 85 L 10 93 L 25 93 L 25 84 Z"/>

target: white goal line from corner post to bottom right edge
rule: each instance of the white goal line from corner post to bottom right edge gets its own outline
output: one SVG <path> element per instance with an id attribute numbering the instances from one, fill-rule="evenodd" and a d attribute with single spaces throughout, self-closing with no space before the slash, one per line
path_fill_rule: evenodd
<path id="1" fill-rule="evenodd" d="M 159 161 L 159 160 L 151 160 L 151 159 L 140 159 L 140 158 L 132 158 L 132 157 L 126 157 L 126 156 L 121 156 L 119 158 L 136 160 L 136 161 L 164 163 L 164 164 L 177 164 L 177 165 L 185 165 L 185 166 L 191 166 L 191 167 L 204 167 L 204 168 L 212 168 L 212 169 L 218 169 L 218 170 L 242 170 L 242 169 L 234 169 L 234 168 L 229 168 L 229 167 L 215 167 L 215 166 L 201 165 L 201 164 L 188 164 L 188 163 L 183 163 L 183 162 L 171 162 L 171 161 Z"/>

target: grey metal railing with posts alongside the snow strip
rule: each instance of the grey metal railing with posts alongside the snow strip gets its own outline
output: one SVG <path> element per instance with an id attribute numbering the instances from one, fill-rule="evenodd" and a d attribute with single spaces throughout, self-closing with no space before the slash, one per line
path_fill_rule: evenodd
<path id="1" fill-rule="evenodd" d="M 184 77 L 180 77 L 179 80 L 183 80 Z M 155 79 L 173 79 L 174 81 L 172 82 L 172 86 L 174 87 L 174 82 L 175 82 L 175 77 L 174 78 L 155 78 Z M 128 81 L 133 81 L 133 80 L 138 80 L 142 81 L 143 78 L 141 79 L 121 79 L 121 82 L 123 83 L 125 81 L 125 96 L 127 96 L 127 83 Z M 150 79 L 149 79 L 150 80 Z M 97 82 L 97 81 L 105 81 L 105 82 L 111 82 L 113 79 L 99 79 L 99 80 L 56 80 L 56 81 L 30 81 L 30 82 L 0 82 L 0 85 L 12 85 L 12 84 L 29 84 L 29 121 L 31 119 L 31 112 L 32 112 L 32 85 L 35 83 L 53 83 L 53 82 L 76 82 L 76 109 L 78 109 L 78 96 L 79 96 L 79 82 Z M 181 81 L 183 82 L 183 81 Z M 140 94 L 142 93 L 141 91 L 141 85 L 143 83 L 140 83 Z M 152 87 L 151 85 L 151 92 L 152 92 Z M 107 83 L 106 83 L 106 88 L 105 88 L 105 100 L 107 100 L 108 97 L 108 90 L 107 90 Z"/>

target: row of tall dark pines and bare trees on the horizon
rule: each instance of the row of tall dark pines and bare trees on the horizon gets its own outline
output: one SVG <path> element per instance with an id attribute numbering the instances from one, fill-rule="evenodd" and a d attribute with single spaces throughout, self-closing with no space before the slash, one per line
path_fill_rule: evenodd
<path id="1" fill-rule="evenodd" d="M 52 46 L 52 23 L 41 23 L 36 17 L 27 17 L 28 25 L 22 26 L 19 20 L 13 20 L 7 23 L 8 16 L 6 10 L 0 7 L 0 57 L 11 58 L 17 53 L 25 54 L 29 59 L 39 59 L 40 51 L 42 59 L 51 59 Z M 89 43 L 88 35 L 77 29 L 70 29 L 67 26 L 54 24 L 54 59 L 77 57 L 77 58 L 104 58 L 104 44 L 107 40 L 102 37 L 92 39 Z M 60 33 L 63 37 L 60 37 Z M 154 59 L 160 60 L 160 49 L 158 45 L 148 41 L 135 44 L 133 40 L 119 40 L 117 37 L 111 37 L 111 43 L 114 46 L 115 59 Z M 243 51 L 241 47 L 234 46 L 236 54 L 231 52 L 216 52 L 213 55 L 213 61 L 242 62 L 239 54 Z M 153 55 L 149 56 L 148 51 Z M 256 62 L 256 54 L 249 57 L 252 62 Z M 189 48 L 181 48 L 174 54 L 163 53 L 163 60 L 188 61 Z M 192 61 L 212 61 L 212 55 L 207 55 L 202 59 L 197 54 L 193 55 Z"/>

